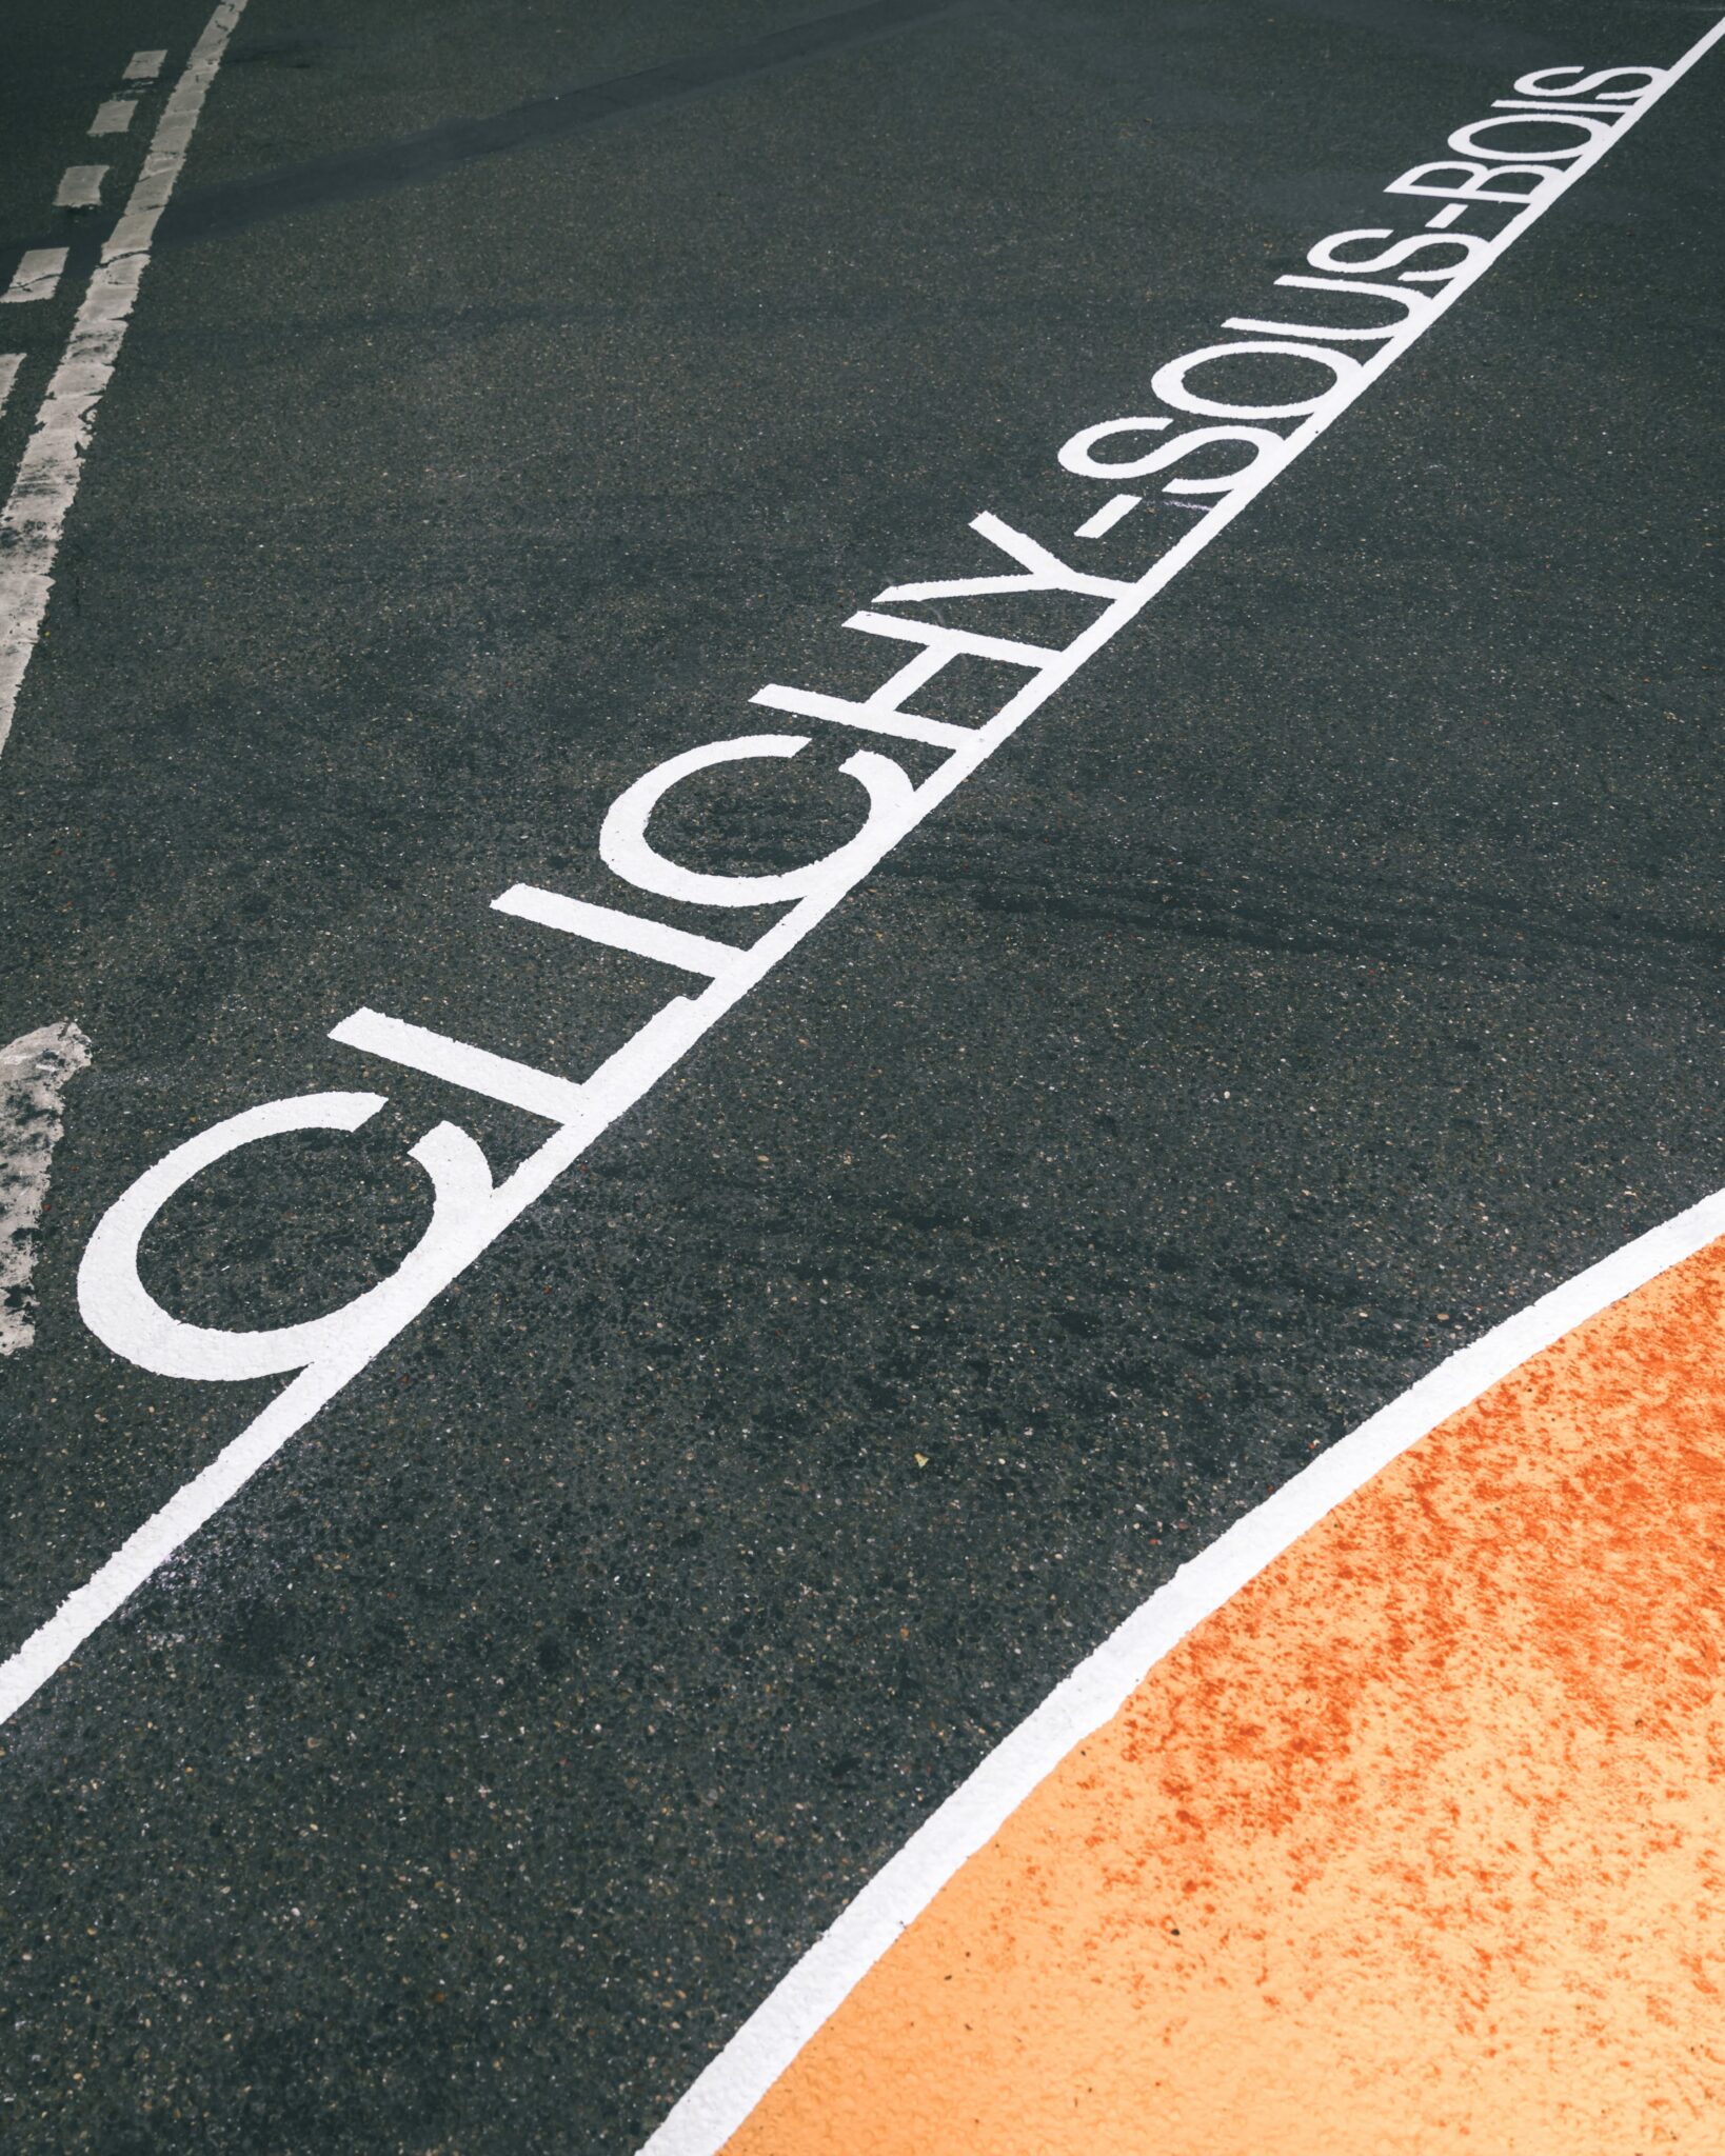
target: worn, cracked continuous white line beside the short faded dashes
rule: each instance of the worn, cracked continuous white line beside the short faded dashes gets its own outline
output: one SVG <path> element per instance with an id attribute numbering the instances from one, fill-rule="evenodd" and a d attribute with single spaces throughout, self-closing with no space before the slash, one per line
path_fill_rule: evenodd
<path id="1" fill-rule="evenodd" d="M 192 47 L 185 73 L 162 108 L 144 168 L 125 205 L 125 216 L 101 250 L 101 263 L 78 308 L 65 356 L 47 384 L 37 429 L 24 448 L 13 492 L 0 511 L 0 539 L 4 541 L 4 552 L 0 552 L 0 748 L 6 746 L 17 692 L 41 636 L 60 533 L 78 494 L 95 412 L 114 373 L 125 326 L 132 319 L 138 285 L 149 263 L 155 220 L 185 164 L 185 147 L 244 6 L 246 0 L 222 0 Z M 160 65 L 160 56 L 138 54 L 138 58 L 157 58 Z"/>

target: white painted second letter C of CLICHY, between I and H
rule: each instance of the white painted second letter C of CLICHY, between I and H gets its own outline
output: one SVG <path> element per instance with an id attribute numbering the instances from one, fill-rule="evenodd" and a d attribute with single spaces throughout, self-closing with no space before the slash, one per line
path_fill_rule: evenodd
<path id="1" fill-rule="evenodd" d="M 811 893 L 832 888 L 834 882 L 843 888 L 852 871 L 860 875 L 880 854 L 882 819 L 895 811 L 906 815 L 916 798 L 903 765 L 867 748 L 839 765 L 869 796 L 862 830 L 800 869 L 785 869 L 783 875 L 705 875 L 701 869 L 666 860 L 647 839 L 647 819 L 679 778 L 712 770 L 716 763 L 794 757 L 806 746 L 809 737 L 802 733 L 746 733 L 735 742 L 707 742 L 703 748 L 686 748 L 681 757 L 668 757 L 610 804 L 599 826 L 599 860 L 636 890 L 651 890 L 662 899 L 688 899 L 694 906 L 768 906 L 774 899 L 806 899 Z"/>

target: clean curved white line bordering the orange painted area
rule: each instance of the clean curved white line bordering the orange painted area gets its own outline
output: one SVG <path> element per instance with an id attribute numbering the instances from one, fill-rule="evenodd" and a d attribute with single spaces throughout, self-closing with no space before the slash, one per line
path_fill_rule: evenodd
<path id="1" fill-rule="evenodd" d="M 1529 1302 L 1300 1468 L 1085 1656 L 891 1856 L 688 2087 L 640 2156 L 716 2156 L 873 1964 L 1149 1671 L 1300 1535 L 1531 1356 L 1725 1235 L 1725 1190 Z"/>

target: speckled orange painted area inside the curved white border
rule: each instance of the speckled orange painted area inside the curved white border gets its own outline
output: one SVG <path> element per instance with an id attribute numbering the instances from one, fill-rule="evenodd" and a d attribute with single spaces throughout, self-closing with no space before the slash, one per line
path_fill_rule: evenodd
<path id="1" fill-rule="evenodd" d="M 1013 1813 L 727 2156 L 1725 2152 L 1725 1244 Z"/>

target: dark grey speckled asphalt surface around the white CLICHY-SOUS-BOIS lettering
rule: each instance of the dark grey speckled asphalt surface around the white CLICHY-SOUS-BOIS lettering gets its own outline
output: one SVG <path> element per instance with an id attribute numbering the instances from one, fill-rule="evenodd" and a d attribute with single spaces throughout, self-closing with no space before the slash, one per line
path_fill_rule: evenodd
<path id="1" fill-rule="evenodd" d="M 873 686 L 839 623 L 977 511 L 1070 530 L 1052 451 L 1514 73 L 1710 19 L 811 13 L 246 9 L 0 757 L 0 1041 L 95 1050 L 0 1365 L 6 1649 L 280 1388 L 82 1328 L 147 1164 L 388 1091 L 147 1244 L 198 1322 L 347 1300 L 431 1121 L 543 1125 L 339 1018 L 584 1074 L 664 975 L 498 890 L 608 897 L 617 793 Z M 13 250 L 207 9 L 39 17 Z M 0 1731 L 11 2147 L 634 2150 L 1179 1561 L 1725 1181 L 1719 65 Z M 73 304 L 4 310 L 11 461 Z M 839 843 L 856 746 L 686 789 L 684 856 Z"/>

